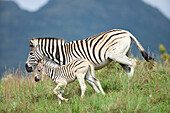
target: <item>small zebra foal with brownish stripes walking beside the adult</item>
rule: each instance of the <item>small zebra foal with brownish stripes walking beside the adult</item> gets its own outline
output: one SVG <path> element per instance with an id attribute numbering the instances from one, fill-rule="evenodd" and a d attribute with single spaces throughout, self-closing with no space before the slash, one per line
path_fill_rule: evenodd
<path id="1" fill-rule="evenodd" d="M 91 71 L 91 75 L 90 75 Z M 35 81 L 39 81 L 43 75 L 48 75 L 57 86 L 54 88 L 53 92 L 59 98 L 59 104 L 62 101 L 68 101 L 68 99 L 62 97 L 64 89 L 62 86 L 66 86 L 68 83 L 74 82 L 78 79 L 81 87 L 81 98 L 84 96 L 86 91 L 86 84 L 84 79 L 94 88 L 94 90 L 99 93 L 102 92 L 105 95 L 105 92 L 102 89 L 102 86 L 97 78 L 94 75 L 93 65 L 85 59 L 76 59 L 71 63 L 63 66 L 58 66 L 50 61 L 42 60 L 35 69 Z M 95 84 L 99 87 L 100 91 L 97 89 Z"/>

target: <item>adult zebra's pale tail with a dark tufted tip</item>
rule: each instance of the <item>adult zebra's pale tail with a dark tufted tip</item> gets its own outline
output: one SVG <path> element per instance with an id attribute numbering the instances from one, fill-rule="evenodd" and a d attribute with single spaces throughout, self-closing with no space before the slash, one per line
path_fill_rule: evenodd
<path id="1" fill-rule="evenodd" d="M 142 45 L 139 43 L 139 41 L 138 41 L 131 33 L 130 33 L 130 37 L 134 40 L 134 42 L 136 43 L 136 45 L 137 45 L 139 51 L 141 52 L 143 58 L 144 58 L 147 62 L 149 62 L 149 61 L 155 61 L 154 58 L 152 58 L 151 56 L 149 56 L 149 55 L 146 53 L 145 49 L 142 47 Z"/>

